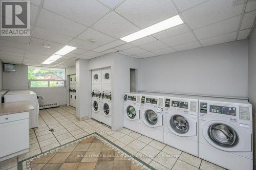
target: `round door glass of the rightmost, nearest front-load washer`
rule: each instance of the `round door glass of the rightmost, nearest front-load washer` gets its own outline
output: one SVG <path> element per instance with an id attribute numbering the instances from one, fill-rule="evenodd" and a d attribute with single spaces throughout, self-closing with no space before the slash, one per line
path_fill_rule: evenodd
<path id="1" fill-rule="evenodd" d="M 239 141 L 236 130 L 222 123 L 211 124 L 208 129 L 208 136 L 214 143 L 224 148 L 232 148 Z"/>

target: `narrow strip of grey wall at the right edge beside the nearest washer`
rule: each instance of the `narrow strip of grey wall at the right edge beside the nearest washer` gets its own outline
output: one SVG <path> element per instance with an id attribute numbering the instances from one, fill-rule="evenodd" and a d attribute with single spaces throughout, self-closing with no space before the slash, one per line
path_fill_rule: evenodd
<path id="1" fill-rule="evenodd" d="M 252 113 L 253 113 L 253 152 L 254 158 L 256 156 L 256 29 L 254 27 L 253 32 L 249 38 L 249 55 L 248 55 L 248 98 L 249 102 L 252 104 Z M 254 161 L 253 166 L 256 168 L 256 162 Z"/>

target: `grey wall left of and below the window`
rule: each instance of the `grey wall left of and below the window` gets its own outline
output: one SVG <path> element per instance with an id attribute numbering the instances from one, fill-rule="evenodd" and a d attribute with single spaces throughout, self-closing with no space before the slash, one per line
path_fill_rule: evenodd
<path id="1" fill-rule="evenodd" d="M 37 95 L 45 97 L 45 104 L 67 104 L 67 88 L 28 88 L 28 66 L 16 65 L 15 72 L 3 72 L 4 89 L 7 90 L 32 90 Z"/>

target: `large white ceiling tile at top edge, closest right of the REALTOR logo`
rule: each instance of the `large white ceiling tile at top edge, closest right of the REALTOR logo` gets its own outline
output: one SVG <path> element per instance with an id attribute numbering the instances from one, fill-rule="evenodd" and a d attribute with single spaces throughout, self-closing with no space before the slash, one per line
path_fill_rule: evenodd
<path id="1" fill-rule="evenodd" d="M 45 0 L 44 8 L 87 26 L 92 26 L 110 11 L 94 0 Z"/>

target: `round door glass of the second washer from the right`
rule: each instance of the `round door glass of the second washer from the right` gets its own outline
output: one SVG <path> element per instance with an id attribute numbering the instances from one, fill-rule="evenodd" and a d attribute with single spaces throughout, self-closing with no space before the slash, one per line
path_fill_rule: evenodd
<path id="1" fill-rule="evenodd" d="M 189 123 L 187 119 L 181 115 L 173 115 L 170 118 L 170 126 L 177 133 L 184 134 L 189 130 Z"/>

